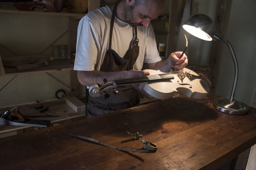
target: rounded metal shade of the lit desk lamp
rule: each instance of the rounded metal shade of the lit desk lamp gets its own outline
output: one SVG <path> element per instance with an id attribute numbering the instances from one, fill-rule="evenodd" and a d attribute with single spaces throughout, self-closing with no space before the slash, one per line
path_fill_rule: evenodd
<path id="1" fill-rule="evenodd" d="M 205 14 L 190 16 L 182 27 L 191 35 L 206 41 L 211 41 L 216 31 L 212 19 Z"/>

